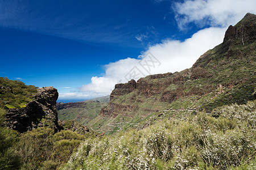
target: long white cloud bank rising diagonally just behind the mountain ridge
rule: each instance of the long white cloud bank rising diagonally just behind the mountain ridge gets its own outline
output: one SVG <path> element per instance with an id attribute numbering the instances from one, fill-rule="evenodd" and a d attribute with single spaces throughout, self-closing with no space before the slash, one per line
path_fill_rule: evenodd
<path id="1" fill-rule="evenodd" d="M 104 76 L 92 77 L 91 83 L 83 85 L 80 90 L 109 95 L 115 84 L 127 82 L 130 78 L 133 78 L 132 73 L 138 74 L 135 78 L 137 80 L 149 74 L 174 73 L 187 69 L 195 63 L 201 54 L 222 42 L 225 30 L 226 28 L 206 28 L 195 33 L 184 42 L 165 40 L 160 44 L 152 45 L 138 59 L 126 58 L 109 63 L 106 65 Z M 154 67 L 153 63 L 148 60 L 148 53 L 151 53 L 157 61 Z M 151 65 L 150 70 L 147 66 L 142 67 L 139 64 L 139 62 L 145 63 L 144 61 Z"/>

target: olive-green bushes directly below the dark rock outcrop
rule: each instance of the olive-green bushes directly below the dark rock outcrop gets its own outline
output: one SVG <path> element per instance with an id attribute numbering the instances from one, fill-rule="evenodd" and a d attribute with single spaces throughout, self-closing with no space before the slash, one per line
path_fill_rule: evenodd
<path id="1" fill-rule="evenodd" d="M 56 169 L 68 161 L 84 139 L 70 130 L 54 134 L 53 129 L 38 128 L 22 134 L 16 150 L 24 169 Z"/>

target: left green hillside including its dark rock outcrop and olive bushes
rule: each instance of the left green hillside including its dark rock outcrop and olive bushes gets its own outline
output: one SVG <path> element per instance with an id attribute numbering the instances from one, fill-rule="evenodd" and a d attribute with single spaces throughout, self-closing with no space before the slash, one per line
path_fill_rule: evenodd
<path id="1" fill-rule="evenodd" d="M 57 90 L 0 77 L 0 169 L 57 169 L 98 133 L 57 121 Z"/>

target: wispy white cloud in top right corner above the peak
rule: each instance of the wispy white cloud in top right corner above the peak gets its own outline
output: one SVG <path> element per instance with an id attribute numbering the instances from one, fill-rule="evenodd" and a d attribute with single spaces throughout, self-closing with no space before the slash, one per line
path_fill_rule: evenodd
<path id="1" fill-rule="evenodd" d="M 176 20 L 181 29 L 187 23 L 227 27 L 236 24 L 247 12 L 256 13 L 255 0 L 195 0 L 175 3 Z"/>

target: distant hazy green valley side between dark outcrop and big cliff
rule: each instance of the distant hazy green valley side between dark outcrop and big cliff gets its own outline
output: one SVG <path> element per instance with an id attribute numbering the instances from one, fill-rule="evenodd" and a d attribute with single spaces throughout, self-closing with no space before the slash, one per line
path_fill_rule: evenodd
<path id="1" fill-rule="evenodd" d="M 89 125 L 101 111 L 108 105 L 109 96 L 97 97 L 75 103 L 57 103 L 56 108 L 59 120 L 74 120 L 81 124 Z"/>

